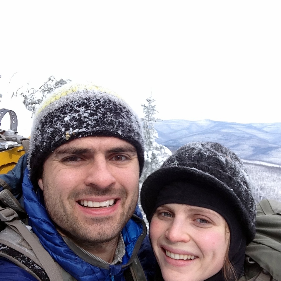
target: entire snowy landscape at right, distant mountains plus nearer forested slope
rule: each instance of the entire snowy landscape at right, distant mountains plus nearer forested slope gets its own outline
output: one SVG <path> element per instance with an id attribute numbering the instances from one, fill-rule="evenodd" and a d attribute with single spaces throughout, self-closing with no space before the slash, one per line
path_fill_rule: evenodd
<path id="1" fill-rule="evenodd" d="M 155 129 L 157 142 L 172 152 L 191 141 L 225 145 L 243 160 L 253 181 L 256 200 L 281 201 L 281 123 L 161 120 Z"/>

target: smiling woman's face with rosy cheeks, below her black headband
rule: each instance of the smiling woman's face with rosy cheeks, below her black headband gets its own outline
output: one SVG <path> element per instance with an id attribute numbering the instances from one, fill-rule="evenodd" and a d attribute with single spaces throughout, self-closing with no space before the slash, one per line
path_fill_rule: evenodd
<path id="1" fill-rule="evenodd" d="M 230 237 L 217 212 L 185 204 L 157 208 L 150 239 L 165 281 L 201 281 L 223 267 Z"/>

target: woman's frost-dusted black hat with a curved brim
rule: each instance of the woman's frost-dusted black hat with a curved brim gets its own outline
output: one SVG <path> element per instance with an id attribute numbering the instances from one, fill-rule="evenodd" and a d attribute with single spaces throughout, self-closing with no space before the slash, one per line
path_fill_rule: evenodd
<path id="1" fill-rule="evenodd" d="M 193 142 L 179 148 L 143 183 L 140 200 L 148 221 L 153 216 L 163 187 L 179 181 L 202 188 L 206 183 L 214 194 L 223 195 L 222 198 L 241 219 L 247 243 L 254 238 L 256 202 L 251 192 L 252 185 L 243 163 L 231 150 L 212 142 Z"/>

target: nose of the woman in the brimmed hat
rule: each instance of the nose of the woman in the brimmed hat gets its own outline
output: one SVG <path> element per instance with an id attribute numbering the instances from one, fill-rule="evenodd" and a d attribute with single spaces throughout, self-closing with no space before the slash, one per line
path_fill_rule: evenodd
<path id="1" fill-rule="evenodd" d="M 174 220 L 165 231 L 165 237 L 172 243 L 188 242 L 191 239 L 188 228 L 185 222 Z"/>

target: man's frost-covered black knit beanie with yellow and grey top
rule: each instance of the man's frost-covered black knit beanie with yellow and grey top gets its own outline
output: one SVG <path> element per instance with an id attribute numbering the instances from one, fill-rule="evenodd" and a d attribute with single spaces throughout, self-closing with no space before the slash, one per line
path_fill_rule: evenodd
<path id="1" fill-rule="evenodd" d="M 70 140 L 86 136 L 113 136 L 131 143 L 138 154 L 141 174 L 143 130 L 133 110 L 101 87 L 69 83 L 41 105 L 33 121 L 28 158 L 32 183 L 37 183 L 50 153 Z"/>

